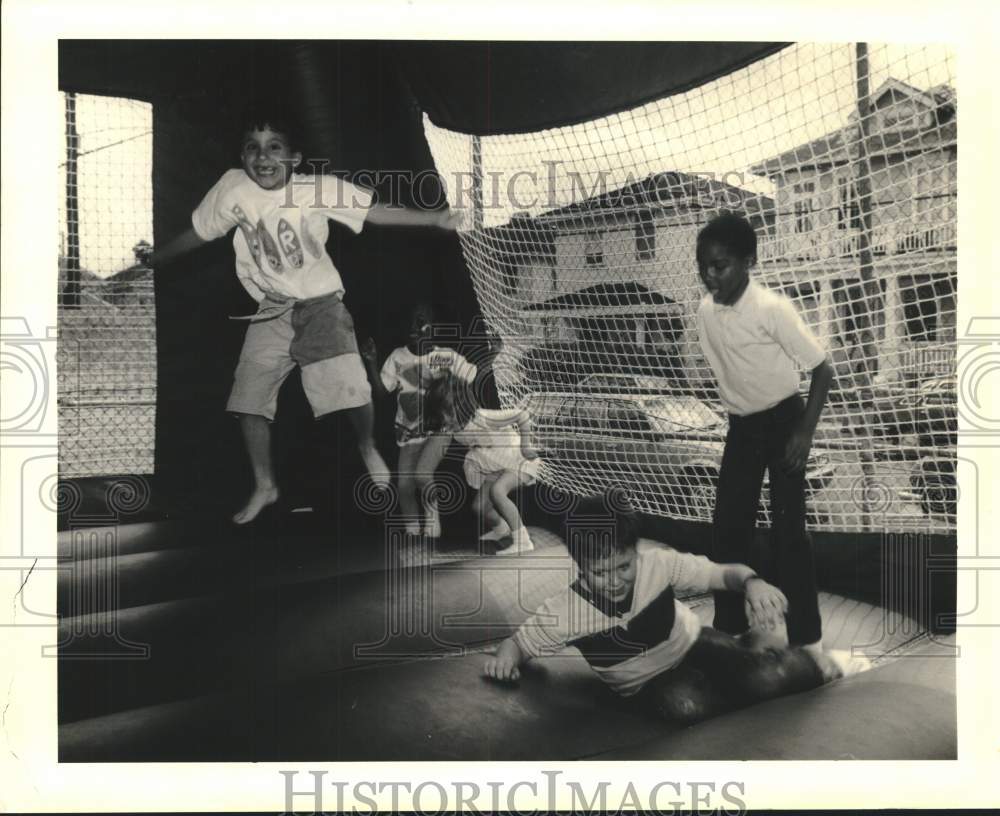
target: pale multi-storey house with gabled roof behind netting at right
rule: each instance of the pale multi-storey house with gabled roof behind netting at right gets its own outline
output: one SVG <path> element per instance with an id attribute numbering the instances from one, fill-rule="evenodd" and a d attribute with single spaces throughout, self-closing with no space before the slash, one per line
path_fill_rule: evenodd
<path id="1" fill-rule="evenodd" d="M 957 295 L 956 99 L 889 79 L 871 95 L 872 272 L 865 304 L 857 115 L 835 133 L 751 171 L 776 187 L 758 260 L 830 345 L 863 348 L 886 380 L 954 372 Z"/>

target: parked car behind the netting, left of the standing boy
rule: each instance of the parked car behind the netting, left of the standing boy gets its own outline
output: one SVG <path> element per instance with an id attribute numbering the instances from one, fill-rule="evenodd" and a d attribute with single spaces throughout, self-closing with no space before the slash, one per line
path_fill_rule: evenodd
<path id="1" fill-rule="evenodd" d="M 625 375 L 620 379 L 623 387 L 611 393 L 581 389 L 532 395 L 529 408 L 547 466 L 595 492 L 611 484 L 647 485 L 641 499 L 650 509 L 711 521 L 725 415 L 695 396 L 642 393 L 641 380 Z M 807 505 L 835 471 L 825 453 L 812 452 L 806 470 Z M 765 476 L 762 516 L 767 496 Z M 812 515 L 816 521 L 816 513 Z"/>

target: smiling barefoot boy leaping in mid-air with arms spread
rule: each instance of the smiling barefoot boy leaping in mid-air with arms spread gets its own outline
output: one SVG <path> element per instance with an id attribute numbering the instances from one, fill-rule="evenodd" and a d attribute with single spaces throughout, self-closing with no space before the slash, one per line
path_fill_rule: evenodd
<path id="1" fill-rule="evenodd" d="M 366 223 L 455 229 L 457 222 L 447 212 L 373 203 L 370 192 L 334 176 L 295 173 L 302 162 L 298 133 L 278 112 L 248 117 L 241 168 L 223 174 L 195 209 L 191 228 L 151 259 L 162 265 L 236 228 L 236 274 L 259 304 L 226 408 L 239 417 L 254 476 L 253 493 L 233 516 L 237 524 L 278 499 L 270 422 L 278 389 L 295 365 L 313 414 L 346 411 L 369 475 L 379 486 L 389 483 L 372 438 L 371 388 L 343 304 L 344 284 L 326 252 L 328 219 L 354 233 Z"/>

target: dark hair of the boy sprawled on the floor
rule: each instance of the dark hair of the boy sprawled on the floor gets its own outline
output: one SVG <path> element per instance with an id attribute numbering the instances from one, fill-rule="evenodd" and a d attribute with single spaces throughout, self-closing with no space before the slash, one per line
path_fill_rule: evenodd
<path id="1" fill-rule="evenodd" d="M 613 487 L 600 496 L 577 502 L 563 518 L 563 540 L 580 566 L 634 547 L 639 540 L 639 514 L 628 494 Z"/>

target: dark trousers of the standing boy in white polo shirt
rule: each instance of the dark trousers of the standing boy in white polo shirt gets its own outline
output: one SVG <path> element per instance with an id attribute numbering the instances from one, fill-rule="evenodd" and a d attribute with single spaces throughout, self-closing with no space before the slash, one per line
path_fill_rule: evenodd
<path id="1" fill-rule="evenodd" d="M 805 471 L 786 473 L 783 465 L 788 437 L 804 410 L 795 394 L 766 411 L 729 417 L 712 519 L 713 560 L 746 564 L 767 470 L 775 573 L 764 577 L 788 598 L 786 623 L 793 646 L 814 643 L 822 635 L 812 541 L 806 533 Z M 742 594 L 715 593 L 714 625 L 731 634 L 746 631 Z"/>

